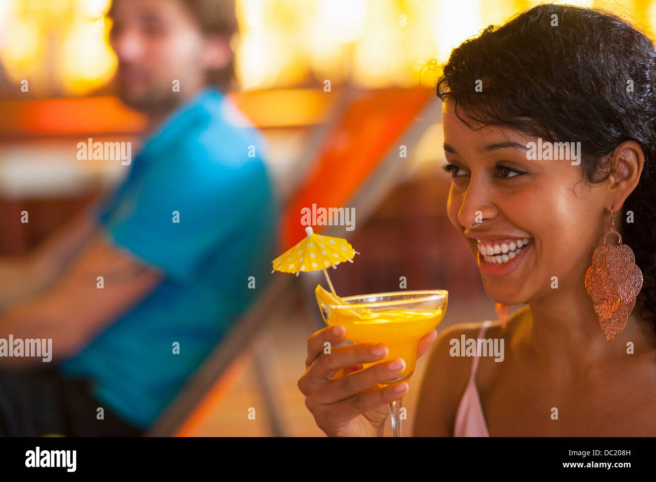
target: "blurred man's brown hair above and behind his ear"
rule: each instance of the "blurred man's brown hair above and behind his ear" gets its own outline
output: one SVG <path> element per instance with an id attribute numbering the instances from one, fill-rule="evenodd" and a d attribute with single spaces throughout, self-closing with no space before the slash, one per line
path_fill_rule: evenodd
<path id="1" fill-rule="evenodd" d="M 189 12 L 191 12 L 204 35 L 218 35 L 230 42 L 239 33 L 235 0 L 178 1 L 181 1 Z M 108 13 L 110 17 L 112 16 L 112 9 L 113 3 Z M 227 92 L 236 87 L 234 52 L 226 66 L 207 72 L 207 83 L 222 92 Z"/>

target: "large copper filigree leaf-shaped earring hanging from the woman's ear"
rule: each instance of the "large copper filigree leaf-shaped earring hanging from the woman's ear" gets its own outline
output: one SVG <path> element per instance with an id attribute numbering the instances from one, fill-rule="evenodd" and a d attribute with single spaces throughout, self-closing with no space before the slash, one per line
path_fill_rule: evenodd
<path id="1" fill-rule="evenodd" d="M 613 233 L 619 239 L 617 246 L 606 244 L 606 238 Z M 585 288 L 609 342 L 626 327 L 642 289 L 642 271 L 636 266 L 633 250 L 622 243 L 622 236 L 615 231 L 612 208 L 611 230 L 604 236 L 604 245 L 592 254 L 592 266 L 585 273 Z"/>

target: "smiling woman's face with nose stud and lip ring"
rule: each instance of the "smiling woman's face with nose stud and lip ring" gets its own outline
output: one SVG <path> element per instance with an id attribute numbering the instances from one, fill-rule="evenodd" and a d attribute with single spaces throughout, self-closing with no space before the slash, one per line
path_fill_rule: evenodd
<path id="1" fill-rule="evenodd" d="M 553 277 L 561 291 L 581 289 L 609 229 L 602 190 L 569 159 L 527 159 L 536 137 L 494 126 L 472 131 L 451 104 L 443 107 L 453 165 L 447 211 L 476 256 L 488 296 L 503 304 L 537 300 L 556 289 Z"/>

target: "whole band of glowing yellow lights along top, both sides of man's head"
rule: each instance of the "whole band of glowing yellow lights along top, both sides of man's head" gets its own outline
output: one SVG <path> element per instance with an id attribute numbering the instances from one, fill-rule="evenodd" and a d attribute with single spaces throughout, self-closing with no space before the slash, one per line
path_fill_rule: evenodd
<path id="1" fill-rule="evenodd" d="M 0 0 L 0 61 L 37 96 L 88 94 L 112 78 L 111 0 Z M 451 49 L 539 0 L 236 0 L 242 90 L 431 83 Z M 656 0 L 567 0 L 611 10 L 649 35 Z M 429 62 L 433 62 L 430 64 Z"/>

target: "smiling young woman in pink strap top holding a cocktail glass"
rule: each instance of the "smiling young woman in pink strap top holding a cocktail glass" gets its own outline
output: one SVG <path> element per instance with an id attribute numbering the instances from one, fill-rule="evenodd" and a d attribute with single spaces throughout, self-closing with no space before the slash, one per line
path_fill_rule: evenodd
<path id="1" fill-rule="evenodd" d="M 489 297 L 525 306 L 505 327 L 441 333 L 415 435 L 656 434 L 655 82 L 653 43 L 600 10 L 540 5 L 453 50 L 437 86 L 449 218 Z M 554 142 L 571 150 L 549 154 Z M 611 228 L 637 268 L 617 254 L 593 263 L 617 245 Z M 386 354 L 363 344 L 324 355 L 340 328 L 310 337 L 298 386 L 327 435 L 382 435 L 407 384 L 375 384 L 403 362 L 358 370 Z M 502 363 L 452 357 L 462 334 L 504 339 Z"/>

